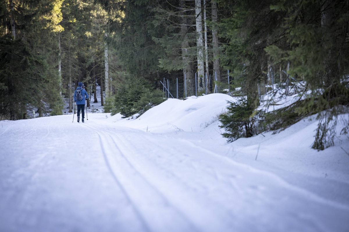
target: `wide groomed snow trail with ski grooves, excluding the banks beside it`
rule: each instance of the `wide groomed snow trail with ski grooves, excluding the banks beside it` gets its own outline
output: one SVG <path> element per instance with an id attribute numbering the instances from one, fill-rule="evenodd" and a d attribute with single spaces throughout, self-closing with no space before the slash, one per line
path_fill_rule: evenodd
<path id="1" fill-rule="evenodd" d="M 1 231 L 348 230 L 348 203 L 223 157 L 202 137 L 71 116 L 1 122 Z"/>

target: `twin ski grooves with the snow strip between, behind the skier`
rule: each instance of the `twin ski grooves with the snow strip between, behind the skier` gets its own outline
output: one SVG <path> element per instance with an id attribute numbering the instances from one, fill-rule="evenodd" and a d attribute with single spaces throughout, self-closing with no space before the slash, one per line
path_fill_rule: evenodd
<path id="1" fill-rule="evenodd" d="M 171 224 L 174 220 L 178 227 L 166 228 L 166 231 L 178 231 L 178 228 L 181 228 L 180 231 L 196 231 L 192 223 L 187 222 L 186 218 L 183 218 L 176 206 L 169 205 L 168 199 L 166 199 L 161 192 L 159 192 L 142 174 L 139 173 L 139 171 L 121 152 L 113 137 L 105 133 L 104 130 L 102 131 L 101 129 L 92 128 L 87 125 L 85 126 L 98 134 L 106 165 L 109 167 L 116 183 L 120 186 L 127 199 L 134 207 L 138 217 L 144 225 L 144 231 L 162 231 L 166 225 Z M 132 179 L 128 179 L 129 176 L 132 176 Z M 142 190 L 141 194 L 138 189 Z M 163 208 L 154 208 L 150 212 L 150 209 L 143 204 L 143 202 L 146 202 L 147 200 L 149 201 L 150 199 L 151 201 L 154 201 L 157 206 L 163 206 Z M 154 218 L 162 218 L 162 220 L 156 222 L 154 221 Z M 149 229 L 150 226 L 154 226 L 153 230 Z"/>

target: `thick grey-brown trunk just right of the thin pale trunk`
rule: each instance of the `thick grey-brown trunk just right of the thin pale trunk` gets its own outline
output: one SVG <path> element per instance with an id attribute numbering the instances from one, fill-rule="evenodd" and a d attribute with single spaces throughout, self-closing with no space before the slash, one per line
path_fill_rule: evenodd
<path id="1" fill-rule="evenodd" d="M 213 0 L 211 2 L 211 12 L 212 12 L 212 22 L 216 23 L 218 19 L 218 10 L 217 10 L 217 1 Z M 219 47 L 218 47 L 218 30 L 216 26 L 212 28 L 212 48 L 213 48 L 213 76 L 215 77 L 215 73 L 217 73 L 217 80 L 221 81 L 221 73 L 220 73 L 220 61 L 218 59 L 219 55 Z"/>

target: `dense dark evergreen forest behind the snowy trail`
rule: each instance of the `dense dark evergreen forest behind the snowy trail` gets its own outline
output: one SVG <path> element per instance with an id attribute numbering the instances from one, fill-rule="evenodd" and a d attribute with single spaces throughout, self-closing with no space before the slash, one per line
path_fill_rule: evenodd
<path id="1" fill-rule="evenodd" d="M 64 97 L 71 112 L 79 81 L 92 92 L 100 85 L 111 109 L 120 99 L 114 96 L 135 81 L 163 89 L 163 78 L 183 83 L 185 75 L 191 96 L 197 75 L 200 95 L 205 88 L 213 91 L 205 78 L 217 74 L 219 82 L 228 70 L 231 88 L 242 87 L 246 96 L 245 121 L 255 114 L 266 84 L 288 88 L 290 77 L 304 81 L 307 98 L 265 121 L 278 129 L 320 113 L 317 149 L 331 144 L 329 121 L 347 109 L 347 0 L 0 3 L 1 118 L 22 119 L 33 110 L 62 114 Z"/>

